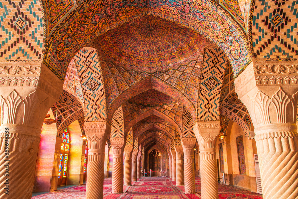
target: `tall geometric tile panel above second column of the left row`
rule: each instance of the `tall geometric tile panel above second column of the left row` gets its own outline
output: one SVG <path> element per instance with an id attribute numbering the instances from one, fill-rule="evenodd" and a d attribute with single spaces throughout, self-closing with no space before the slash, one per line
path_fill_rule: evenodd
<path id="1" fill-rule="evenodd" d="M 84 47 L 74 60 L 84 93 L 85 121 L 105 121 L 105 92 L 96 50 Z"/>

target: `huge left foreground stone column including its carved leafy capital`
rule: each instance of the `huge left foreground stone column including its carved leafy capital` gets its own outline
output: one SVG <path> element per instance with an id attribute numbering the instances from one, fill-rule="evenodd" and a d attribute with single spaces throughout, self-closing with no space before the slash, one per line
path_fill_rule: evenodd
<path id="1" fill-rule="evenodd" d="M 41 61 L 1 62 L 0 68 L 0 198 L 31 198 L 41 127 L 63 81 Z"/>

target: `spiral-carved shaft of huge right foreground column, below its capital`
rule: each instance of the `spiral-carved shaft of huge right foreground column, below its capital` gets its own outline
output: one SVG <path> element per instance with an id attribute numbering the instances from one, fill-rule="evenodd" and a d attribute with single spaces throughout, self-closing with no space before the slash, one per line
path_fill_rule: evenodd
<path id="1" fill-rule="evenodd" d="M 266 130 L 266 127 L 255 129 L 264 199 L 298 197 L 297 127 L 281 124 L 279 129 L 283 131 Z"/>

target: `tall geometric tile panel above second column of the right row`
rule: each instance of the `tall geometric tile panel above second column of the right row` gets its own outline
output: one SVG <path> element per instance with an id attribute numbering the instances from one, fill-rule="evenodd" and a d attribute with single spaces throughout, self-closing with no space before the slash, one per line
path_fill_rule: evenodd
<path id="1" fill-rule="evenodd" d="M 219 48 L 206 48 L 198 97 L 198 120 L 219 120 L 219 100 L 228 58 Z"/>

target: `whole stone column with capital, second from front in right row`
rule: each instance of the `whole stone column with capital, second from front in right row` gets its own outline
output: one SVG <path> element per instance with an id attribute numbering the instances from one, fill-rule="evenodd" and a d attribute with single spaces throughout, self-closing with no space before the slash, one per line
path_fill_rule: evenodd
<path id="1" fill-rule="evenodd" d="M 193 127 L 200 148 L 201 197 L 203 199 L 218 198 L 215 143 L 220 128 L 220 121 L 197 122 Z"/>

